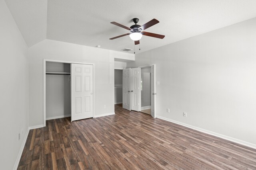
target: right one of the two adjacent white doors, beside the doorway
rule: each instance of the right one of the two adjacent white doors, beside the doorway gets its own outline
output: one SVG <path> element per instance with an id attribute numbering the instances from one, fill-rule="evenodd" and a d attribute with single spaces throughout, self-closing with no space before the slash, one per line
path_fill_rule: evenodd
<path id="1" fill-rule="evenodd" d="M 131 72 L 131 109 L 139 111 L 139 68 L 132 68 Z"/>

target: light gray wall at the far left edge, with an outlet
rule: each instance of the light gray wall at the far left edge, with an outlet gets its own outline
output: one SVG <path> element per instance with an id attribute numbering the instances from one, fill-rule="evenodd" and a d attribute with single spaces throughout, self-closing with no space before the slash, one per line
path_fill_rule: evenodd
<path id="1" fill-rule="evenodd" d="M 0 23 L 0 169 L 11 170 L 28 133 L 28 47 L 4 0 Z"/>

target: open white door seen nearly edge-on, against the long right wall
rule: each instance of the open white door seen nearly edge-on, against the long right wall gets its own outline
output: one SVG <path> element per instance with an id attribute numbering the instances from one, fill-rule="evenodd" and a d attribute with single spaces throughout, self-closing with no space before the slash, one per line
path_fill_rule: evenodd
<path id="1" fill-rule="evenodd" d="M 155 64 L 151 66 L 151 116 L 156 118 L 156 78 L 155 78 Z"/>

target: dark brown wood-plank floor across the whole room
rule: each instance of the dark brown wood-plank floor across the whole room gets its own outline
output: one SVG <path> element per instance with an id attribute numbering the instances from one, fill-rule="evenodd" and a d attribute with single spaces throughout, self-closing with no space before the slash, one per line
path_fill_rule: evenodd
<path id="1" fill-rule="evenodd" d="M 256 170 L 256 150 L 136 111 L 30 130 L 18 166 L 29 169 Z"/>

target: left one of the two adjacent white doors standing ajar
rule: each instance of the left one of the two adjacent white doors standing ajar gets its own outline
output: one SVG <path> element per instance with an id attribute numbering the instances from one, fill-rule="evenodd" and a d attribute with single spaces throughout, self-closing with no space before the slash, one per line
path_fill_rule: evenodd
<path id="1" fill-rule="evenodd" d="M 125 68 L 123 70 L 123 108 L 127 110 L 131 110 L 131 68 Z"/>

